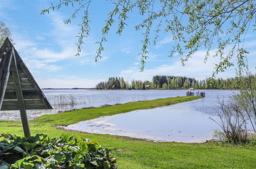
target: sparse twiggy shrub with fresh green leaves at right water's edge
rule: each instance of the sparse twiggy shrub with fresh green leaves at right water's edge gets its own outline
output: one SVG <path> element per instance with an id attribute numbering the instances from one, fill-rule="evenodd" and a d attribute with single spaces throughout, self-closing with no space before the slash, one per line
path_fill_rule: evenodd
<path id="1" fill-rule="evenodd" d="M 211 118 L 221 126 L 225 139 L 230 143 L 253 142 L 256 134 L 256 75 L 248 70 L 245 73 L 239 74 L 239 92 L 233 92 L 228 102 L 219 100 L 219 120 Z M 248 126 L 253 129 L 251 133 Z"/>

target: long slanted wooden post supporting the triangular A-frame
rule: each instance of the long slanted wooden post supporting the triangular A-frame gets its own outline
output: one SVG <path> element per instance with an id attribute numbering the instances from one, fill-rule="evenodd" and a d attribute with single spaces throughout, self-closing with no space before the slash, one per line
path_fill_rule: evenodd
<path id="1" fill-rule="evenodd" d="M 30 130 L 29 130 L 29 123 L 28 123 L 28 117 L 26 113 L 26 107 L 23 99 L 23 93 L 22 93 L 22 88 L 21 88 L 21 81 L 19 80 L 19 74 L 18 74 L 18 69 L 17 69 L 17 64 L 16 64 L 16 57 L 14 54 L 14 48 L 12 48 L 12 62 L 11 62 L 11 71 L 12 71 L 12 76 L 14 80 L 14 86 L 15 86 L 15 92 L 17 96 L 17 102 L 19 106 L 19 112 L 21 113 L 21 118 L 22 118 L 22 125 L 23 125 L 23 131 L 25 137 L 30 136 Z"/>

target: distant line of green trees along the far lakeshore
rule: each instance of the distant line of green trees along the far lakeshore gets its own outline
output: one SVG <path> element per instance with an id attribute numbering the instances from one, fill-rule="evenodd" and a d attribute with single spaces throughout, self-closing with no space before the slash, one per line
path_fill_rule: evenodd
<path id="1" fill-rule="evenodd" d="M 253 75 L 255 76 L 255 75 Z M 238 89 L 238 77 L 231 78 L 206 78 L 196 80 L 185 76 L 155 75 L 152 81 L 124 80 L 123 77 L 109 77 L 96 85 L 97 89 Z"/>

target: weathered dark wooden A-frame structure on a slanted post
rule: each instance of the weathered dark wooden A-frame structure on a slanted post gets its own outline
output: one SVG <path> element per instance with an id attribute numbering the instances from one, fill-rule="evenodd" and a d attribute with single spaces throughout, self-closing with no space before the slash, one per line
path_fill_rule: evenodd
<path id="1" fill-rule="evenodd" d="M 44 93 L 6 38 L 0 48 L 0 110 L 19 110 L 25 137 L 30 136 L 26 110 L 52 109 Z"/>

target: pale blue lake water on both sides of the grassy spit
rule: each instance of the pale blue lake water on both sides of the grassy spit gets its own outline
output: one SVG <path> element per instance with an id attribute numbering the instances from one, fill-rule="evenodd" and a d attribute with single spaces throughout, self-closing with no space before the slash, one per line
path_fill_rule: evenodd
<path id="1" fill-rule="evenodd" d="M 67 110 L 101 107 L 139 100 L 185 96 L 186 90 L 43 90 L 53 110 L 27 111 L 29 119 Z M 218 97 L 228 99 L 230 90 L 203 90 L 206 97 L 166 107 L 137 110 L 82 121 L 66 129 L 88 133 L 129 136 L 154 141 L 204 142 L 219 129 Z M 1 111 L 1 120 L 20 120 L 18 111 Z"/>

